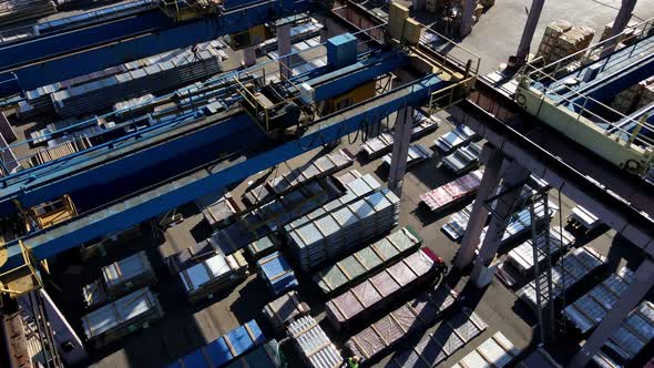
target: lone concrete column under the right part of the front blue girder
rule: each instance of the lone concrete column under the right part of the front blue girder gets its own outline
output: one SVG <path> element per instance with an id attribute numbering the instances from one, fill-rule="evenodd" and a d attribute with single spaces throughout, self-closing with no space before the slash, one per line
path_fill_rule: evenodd
<path id="1" fill-rule="evenodd" d="M 392 155 L 390 157 L 390 171 L 388 173 L 388 188 L 398 197 L 402 196 L 402 183 L 407 172 L 407 159 L 409 144 L 411 143 L 411 126 L 413 125 L 413 108 L 402 108 L 397 113 L 395 121 L 395 137 Z"/>

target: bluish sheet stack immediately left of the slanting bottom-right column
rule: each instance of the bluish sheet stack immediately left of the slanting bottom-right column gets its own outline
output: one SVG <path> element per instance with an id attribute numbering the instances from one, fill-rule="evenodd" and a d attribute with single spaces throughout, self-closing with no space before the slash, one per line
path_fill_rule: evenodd
<path id="1" fill-rule="evenodd" d="M 563 315 L 585 334 L 595 328 L 613 309 L 624 290 L 635 279 L 634 273 L 623 267 L 616 274 L 611 274 L 602 284 L 563 309 Z"/>

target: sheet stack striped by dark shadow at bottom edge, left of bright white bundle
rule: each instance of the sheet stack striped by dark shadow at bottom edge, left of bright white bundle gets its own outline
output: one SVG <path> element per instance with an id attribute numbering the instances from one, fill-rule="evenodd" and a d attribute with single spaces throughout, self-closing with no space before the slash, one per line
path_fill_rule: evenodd
<path id="1" fill-rule="evenodd" d="M 488 325 L 473 311 L 463 308 L 443 321 L 433 334 L 418 344 L 398 351 L 387 367 L 437 367 L 457 350 L 481 335 Z"/>

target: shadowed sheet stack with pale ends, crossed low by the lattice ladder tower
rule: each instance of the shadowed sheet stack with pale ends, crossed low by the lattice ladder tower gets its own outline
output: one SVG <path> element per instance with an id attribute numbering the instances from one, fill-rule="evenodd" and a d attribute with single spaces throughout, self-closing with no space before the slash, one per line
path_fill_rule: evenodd
<path id="1" fill-rule="evenodd" d="M 566 254 L 555 266 L 552 267 L 552 295 L 554 300 L 563 293 L 587 278 L 594 270 L 604 265 L 605 258 L 590 246 L 574 249 Z M 563 284 L 565 282 L 565 285 Z M 535 283 L 531 282 L 518 292 L 518 297 L 531 308 L 538 306 L 535 300 Z"/>

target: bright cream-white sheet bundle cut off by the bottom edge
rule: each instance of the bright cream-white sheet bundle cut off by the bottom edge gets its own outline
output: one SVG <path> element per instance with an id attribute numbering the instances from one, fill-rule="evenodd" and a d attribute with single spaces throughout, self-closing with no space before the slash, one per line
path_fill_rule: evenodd
<path id="1" fill-rule="evenodd" d="M 452 368 L 503 368 L 510 365 L 519 354 L 520 350 L 513 346 L 504 334 L 497 331 L 488 340 L 481 343 L 479 347 L 463 357 L 463 359 L 453 365 Z"/>

